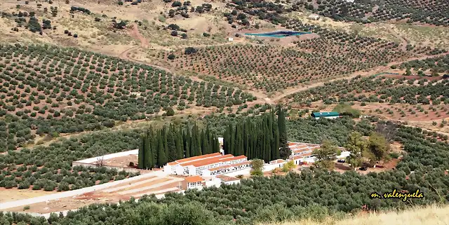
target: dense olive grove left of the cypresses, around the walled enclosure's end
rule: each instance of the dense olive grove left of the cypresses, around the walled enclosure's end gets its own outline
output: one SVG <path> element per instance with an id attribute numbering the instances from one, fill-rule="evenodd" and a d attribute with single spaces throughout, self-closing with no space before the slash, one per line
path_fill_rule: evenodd
<path id="1" fill-rule="evenodd" d="M 54 142 L 50 146 L 36 146 L 32 151 L 26 148 L 21 151 L 10 151 L 7 155 L 0 156 L 0 168 L 6 165 L 7 168 L 16 168 L 9 170 L 10 172 L 23 171 L 22 182 L 20 184 L 9 182 L 7 177 L 0 175 L 0 186 L 11 188 L 19 186 L 20 189 L 26 189 L 27 186 L 33 185 L 33 189 L 36 190 L 43 188 L 53 191 L 61 182 L 68 183 L 70 189 L 74 189 L 75 186 L 78 188 L 93 186 L 98 175 L 109 175 L 113 180 L 117 174 L 132 177 L 135 174 L 124 171 L 117 173 L 116 170 L 102 167 L 90 169 L 80 166 L 72 167 L 72 162 L 82 158 L 137 149 L 141 131 L 129 130 L 81 135 Z M 37 168 L 41 166 L 43 168 Z M 48 175 L 43 176 L 44 174 Z M 58 178 L 58 175 L 62 175 L 62 179 Z M 62 184 L 60 189 L 65 191 L 67 186 Z"/>

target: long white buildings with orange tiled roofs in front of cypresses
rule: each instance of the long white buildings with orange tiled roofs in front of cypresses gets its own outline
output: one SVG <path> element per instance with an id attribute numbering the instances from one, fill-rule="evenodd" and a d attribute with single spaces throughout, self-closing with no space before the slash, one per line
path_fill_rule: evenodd
<path id="1" fill-rule="evenodd" d="M 223 172 L 239 170 L 248 167 L 246 156 L 233 156 L 231 154 L 222 155 L 220 153 L 207 154 L 180 159 L 167 163 L 163 167 L 166 174 L 175 175 L 218 175 Z"/>

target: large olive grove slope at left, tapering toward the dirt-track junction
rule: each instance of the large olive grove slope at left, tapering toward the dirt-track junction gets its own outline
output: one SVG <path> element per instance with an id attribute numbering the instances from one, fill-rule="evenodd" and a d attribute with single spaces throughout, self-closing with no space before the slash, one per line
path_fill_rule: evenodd
<path id="1" fill-rule="evenodd" d="M 34 135 L 72 133 L 190 107 L 224 109 L 256 97 L 144 64 L 54 46 L 0 46 L 3 151 Z"/>

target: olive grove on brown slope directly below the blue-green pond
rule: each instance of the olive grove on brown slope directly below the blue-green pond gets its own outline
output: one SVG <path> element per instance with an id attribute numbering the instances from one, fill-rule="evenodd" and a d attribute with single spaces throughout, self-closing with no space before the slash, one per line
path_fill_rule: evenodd
<path id="1" fill-rule="evenodd" d="M 445 52 L 415 46 L 406 48 L 383 39 L 304 24 L 300 20 L 289 20 L 286 27 L 314 34 L 306 34 L 293 41 L 293 47 L 257 44 L 210 46 L 192 52 L 161 52 L 158 57 L 178 69 L 215 76 L 269 93 L 300 83 L 322 81 L 391 62 Z"/>

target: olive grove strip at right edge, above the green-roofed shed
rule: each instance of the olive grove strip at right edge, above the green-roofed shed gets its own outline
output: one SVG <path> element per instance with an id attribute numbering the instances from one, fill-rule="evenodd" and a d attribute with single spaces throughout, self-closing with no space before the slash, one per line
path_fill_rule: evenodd
<path id="1" fill-rule="evenodd" d="M 448 90 L 448 86 L 449 82 L 447 80 L 429 81 L 419 86 L 412 86 L 406 82 L 406 79 L 357 76 L 351 80 L 337 80 L 331 83 L 325 83 L 324 86 L 295 93 L 290 96 L 290 99 L 300 104 L 307 104 L 319 100 L 323 100 L 325 104 L 356 101 L 430 104 L 429 97 L 431 100 L 444 102 L 448 97 L 448 94 L 445 92 Z M 375 95 L 367 95 L 366 93 L 361 93 L 362 91 L 366 93 L 374 92 Z"/>

